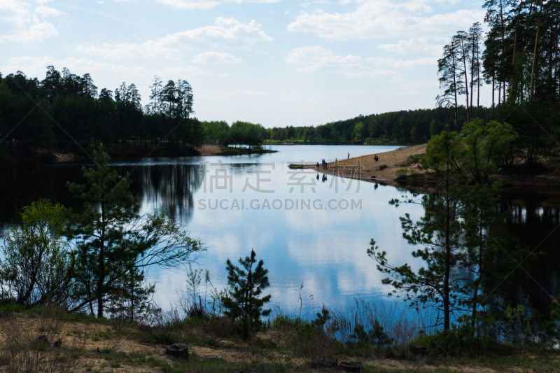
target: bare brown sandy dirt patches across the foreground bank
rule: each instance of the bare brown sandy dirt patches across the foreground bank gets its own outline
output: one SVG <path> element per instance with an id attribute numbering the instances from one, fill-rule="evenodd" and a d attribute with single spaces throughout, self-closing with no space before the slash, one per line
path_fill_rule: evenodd
<path id="1" fill-rule="evenodd" d="M 170 370 L 162 370 L 162 363 L 173 365 L 176 361 L 174 358 L 165 355 L 165 346 L 158 344 L 148 344 L 138 342 L 140 339 L 139 330 L 123 328 L 120 332 L 116 332 L 110 325 L 96 323 L 80 323 L 80 322 L 57 322 L 54 324 L 45 324 L 38 321 L 37 318 L 29 318 L 28 316 L 15 316 L 17 325 L 1 324 L 1 339 L 6 338 L 6 332 L 18 332 L 36 338 L 38 335 L 45 334 L 50 342 L 62 339 L 62 346 L 70 348 L 77 346 L 76 341 L 80 343 L 80 349 L 85 353 L 78 359 L 78 365 L 74 372 L 171 372 Z M 6 323 L 4 319 L 3 323 Z M 50 329 L 50 332 L 45 331 Z M 194 333 L 200 333 L 200 330 L 193 329 Z M 203 335 L 202 335 L 203 336 Z M 200 337 L 200 335 L 199 335 Z M 203 336 L 204 337 L 204 336 Z M 257 335 L 260 339 L 269 339 L 277 345 L 281 346 L 284 340 L 281 333 L 267 332 Z M 199 338 L 200 339 L 200 338 Z M 5 342 L 5 341 L 3 341 Z M 116 351 L 120 354 L 120 358 L 108 358 L 106 351 Z M 255 349 L 251 344 L 241 340 L 222 340 L 214 346 L 197 346 L 189 345 L 190 353 L 195 353 L 202 360 L 222 360 L 228 363 L 262 363 L 263 369 L 267 363 L 279 363 L 287 361 L 285 348 L 274 348 L 271 351 L 262 351 Z M 126 354 L 124 354 L 126 353 Z M 160 362 L 160 366 L 154 366 L 152 362 L 139 362 L 138 356 L 156 359 Z M 309 360 L 304 358 L 293 358 L 290 360 L 290 367 L 285 372 L 331 372 L 332 370 L 322 370 L 319 368 L 306 368 Z M 360 361 L 363 365 L 370 366 L 373 372 L 465 372 L 465 373 L 493 373 L 493 372 L 522 372 L 524 370 L 517 367 L 500 366 L 497 369 L 484 365 L 474 365 L 470 363 L 456 363 L 445 361 L 431 361 L 426 363 L 426 359 L 418 357 L 416 360 L 395 360 L 385 358 L 339 358 L 339 361 Z M 116 364 L 118 363 L 118 364 Z M 266 370 L 262 370 L 265 372 Z M 175 370 L 173 371 L 175 372 Z M 183 370 L 183 372 L 185 372 Z M 233 372 L 233 371 L 232 371 Z M 251 370 L 253 372 L 253 370 Z M 261 370 L 255 371 L 261 372 Z M 271 371 L 272 372 L 272 371 Z M 274 370 L 276 372 L 276 370 Z M 335 372 L 335 371 L 332 371 Z"/>

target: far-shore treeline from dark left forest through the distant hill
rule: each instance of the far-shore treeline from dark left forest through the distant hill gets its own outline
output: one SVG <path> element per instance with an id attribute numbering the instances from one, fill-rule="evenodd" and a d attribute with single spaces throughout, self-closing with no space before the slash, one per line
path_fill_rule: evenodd
<path id="1" fill-rule="evenodd" d="M 187 80 L 154 77 L 149 104 L 142 107 L 134 83 L 98 92 L 90 74 L 77 76 L 48 66 L 43 80 L 18 71 L 0 74 L 0 148 L 25 152 L 38 146 L 108 150 L 165 146 L 260 146 L 263 142 L 302 143 L 426 143 L 454 123 L 454 108 L 433 108 L 359 115 L 325 125 L 265 128 L 250 122 L 200 122 L 193 115 L 193 91 Z M 480 118 L 491 120 L 489 108 Z M 465 110 L 458 120 L 466 121 Z"/>

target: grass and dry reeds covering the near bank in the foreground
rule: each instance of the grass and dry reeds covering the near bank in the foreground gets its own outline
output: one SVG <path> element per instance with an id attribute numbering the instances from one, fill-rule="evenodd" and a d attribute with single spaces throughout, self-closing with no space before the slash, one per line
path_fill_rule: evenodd
<path id="1" fill-rule="evenodd" d="M 223 318 L 186 320 L 176 319 L 173 312 L 162 314 L 159 321 L 161 325 L 152 324 L 151 328 L 174 330 L 174 336 L 179 342 L 200 346 L 200 350 L 197 350 L 200 355 L 191 349 L 189 360 L 165 356 L 165 344 L 162 346 L 153 344 L 154 342 L 148 343 L 150 351 L 141 352 L 141 349 L 146 349 L 146 341 L 153 337 L 153 330 L 139 328 L 141 325 L 127 326 L 129 329 L 126 330 L 126 335 L 130 337 L 130 341 L 127 342 L 126 349 L 115 344 L 115 348 L 100 348 L 97 352 L 97 349 L 89 346 L 95 339 L 100 340 L 97 342 L 99 346 L 106 345 L 107 340 L 110 342 L 119 338 L 111 322 L 107 325 L 104 319 L 96 323 L 92 318 L 85 318 L 82 323 L 70 323 L 66 320 L 75 318 L 57 313 L 46 315 L 48 316 L 45 316 L 45 312 L 27 312 L 25 315 L 0 319 L 0 331 L 4 335 L 9 332 L 9 335 L 27 336 L 25 343 L 3 344 L 0 347 L 1 365 L 12 372 L 25 371 L 27 367 L 18 365 L 23 364 L 23 360 L 14 360 L 14 356 L 26 359 L 38 356 L 37 362 L 50 364 L 52 372 L 338 372 L 320 370 L 316 366 L 318 357 L 330 355 L 339 361 L 362 361 L 365 364 L 364 372 L 414 372 L 416 368 L 416 372 L 476 372 L 482 369 L 490 372 L 560 371 L 559 351 L 504 344 L 490 344 L 480 357 L 475 357 L 472 349 L 470 357 L 466 353 L 452 353 L 452 357 L 434 353 L 426 364 L 417 367 L 419 358 L 407 349 L 408 343 L 418 342 L 421 338 L 414 332 L 417 325 L 400 318 L 390 307 L 363 302 L 356 303 L 356 307 L 351 309 L 351 316 L 347 312 L 337 314 L 332 311 L 324 326 L 306 319 L 277 314 L 267 321 L 265 330 L 248 340 L 237 337 L 230 324 L 221 322 Z M 66 345 L 62 350 L 53 349 L 38 341 L 36 334 L 28 335 L 27 330 L 21 329 L 23 324 L 17 321 L 22 319 L 32 323 L 34 333 L 38 332 L 38 328 L 46 330 L 45 334 L 49 334 L 50 341 L 55 340 L 56 333 L 59 333 L 66 336 L 66 341 L 80 336 L 83 343 Z M 55 322 L 61 319 L 64 323 Z M 372 320 L 379 320 L 388 336 L 393 339 L 382 351 L 376 351 L 370 345 L 352 342 L 354 325 L 371 325 Z M 52 328 L 52 325 L 57 328 Z M 89 334 L 85 330 L 89 330 Z M 213 355 L 218 358 L 209 357 Z M 57 365 L 69 368 L 55 369 Z"/>

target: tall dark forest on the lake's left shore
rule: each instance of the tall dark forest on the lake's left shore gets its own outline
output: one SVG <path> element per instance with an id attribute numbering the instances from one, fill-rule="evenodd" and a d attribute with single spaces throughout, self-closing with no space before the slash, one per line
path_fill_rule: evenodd
<path id="1" fill-rule="evenodd" d="M 38 146 L 71 146 L 127 150 L 164 141 L 166 146 L 204 141 L 193 118 L 193 90 L 187 80 L 155 77 L 150 104 L 142 108 L 134 83 L 98 93 L 89 73 L 77 76 L 47 67 L 43 80 L 18 71 L 0 74 L 0 146 L 35 151 Z"/>

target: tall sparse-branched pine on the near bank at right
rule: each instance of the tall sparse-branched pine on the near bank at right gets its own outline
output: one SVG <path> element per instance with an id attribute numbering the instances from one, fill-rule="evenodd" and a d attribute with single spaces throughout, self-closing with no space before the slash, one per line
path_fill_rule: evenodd
<path id="1" fill-rule="evenodd" d="M 371 248 L 367 250 L 377 263 L 379 272 L 389 277 L 382 283 L 393 286 L 390 294 L 405 293 L 405 300 L 411 307 L 433 307 L 443 315 L 443 328 L 451 328 L 451 314 L 458 310 L 458 297 L 461 295 L 462 282 L 452 275 L 466 261 L 465 242 L 463 241 L 464 223 L 461 213 L 465 209 L 461 194 L 457 188 L 456 169 L 458 155 L 463 151 L 461 137 L 456 132 L 446 131 L 434 136 L 426 147 L 423 165 L 431 169 L 429 175 L 437 184 L 432 194 L 413 197 L 402 201 L 391 200 L 391 204 L 419 204 L 425 215 L 414 222 L 409 213 L 400 218 L 402 237 L 409 244 L 424 246 L 412 252 L 414 258 L 426 263 L 414 272 L 405 264 L 395 267 L 388 263 L 386 252 L 379 251 L 372 239 Z"/>

